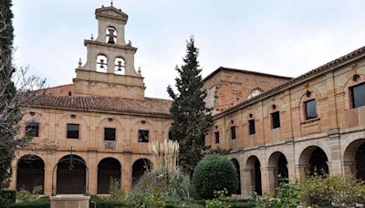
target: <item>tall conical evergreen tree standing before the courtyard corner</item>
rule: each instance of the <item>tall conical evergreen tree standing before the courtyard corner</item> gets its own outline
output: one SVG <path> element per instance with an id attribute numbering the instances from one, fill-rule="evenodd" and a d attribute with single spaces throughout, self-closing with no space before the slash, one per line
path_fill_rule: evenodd
<path id="1" fill-rule="evenodd" d="M 205 132 L 212 127 L 211 109 L 205 108 L 206 92 L 202 90 L 202 68 L 197 57 L 199 50 L 195 47 L 193 36 L 187 42 L 186 55 L 181 68 L 176 66 L 179 77 L 175 78 L 178 93 L 167 88 L 173 99 L 173 125 L 170 130 L 172 140 L 180 144 L 179 165 L 184 172 L 193 176 L 193 170 L 203 157 Z"/>

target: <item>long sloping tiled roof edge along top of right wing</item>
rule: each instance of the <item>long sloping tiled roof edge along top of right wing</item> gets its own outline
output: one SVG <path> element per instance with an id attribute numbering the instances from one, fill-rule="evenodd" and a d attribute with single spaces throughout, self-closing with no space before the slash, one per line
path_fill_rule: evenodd
<path id="1" fill-rule="evenodd" d="M 269 90 L 267 90 L 266 92 L 255 96 L 252 99 L 247 99 L 241 103 L 238 103 L 237 105 L 229 108 L 229 109 L 225 109 L 224 111 L 217 113 L 214 115 L 214 118 L 218 118 L 218 117 L 222 117 L 223 115 L 233 112 L 236 109 L 242 109 L 245 106 L 250 105 L 251 103 L 254 103 L 255 101 L 261 100 L 261 99 L 265 99 L 269 96 L 275 95 L 276 93 L 279 93 L 280 90 L 285 89 L 285 88 L 290 88 L 292 86 L 295 86 L 297 84 L 300 84 L 303 80 L 307 79 L 307 78 L 311 78 L 313 76 L 316 76 L 318 74 L 321 74 L 323 72 L 326 72 L 327 70 L 330 69 L 334 69 L 334 68 L 338 68 L 339 66 L 346 64 L 349 61 L 353 61 L 356 58 L 360 58 L 360 57 L 365 57 L 365 47 L 360 47 L 357 50 L 354 50 L 352 52 L 350 52 L 349 54 L 336 58 L 332 61 L 329 61 L 327 64 L 322 65 L 318 68 L 315 68 L 313 70 L 308 71 L 307 73 L 297 77 L 297 78 L 292 78 L 290 80 L 288 80 L 287 82 L 284 82 L 281 85 L 278 85 L 275 88 L 271 88 Z"/>

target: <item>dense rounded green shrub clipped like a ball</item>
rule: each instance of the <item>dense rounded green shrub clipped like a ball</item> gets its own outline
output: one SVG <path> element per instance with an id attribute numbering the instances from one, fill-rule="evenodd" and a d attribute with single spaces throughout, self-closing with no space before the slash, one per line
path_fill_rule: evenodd
<path id="1" fill-rule="evenodd" d="M 235 165 L 226 156 L 213 154 L 199 161 L 193 172 L 193 185 L 204 199 L 212 199 L 214 191 L 227 190 L 231 195 L 237 189 Z"/>

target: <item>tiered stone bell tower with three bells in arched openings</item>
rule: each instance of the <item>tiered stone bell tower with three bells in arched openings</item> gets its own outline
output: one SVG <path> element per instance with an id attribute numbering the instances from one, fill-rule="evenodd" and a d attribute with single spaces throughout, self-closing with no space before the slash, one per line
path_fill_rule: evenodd
<path id="1" fill-rule="evenodd" d="M 144 84 L 134 68 L 137 47 L 126 44 L 124 29 L 128 16 L 113 5 L 96 9 L 98 37 L 84 41 L 88 50 L 85 65 L 76 68 L 76 96 L 110 96 L 144 99 Z"/>

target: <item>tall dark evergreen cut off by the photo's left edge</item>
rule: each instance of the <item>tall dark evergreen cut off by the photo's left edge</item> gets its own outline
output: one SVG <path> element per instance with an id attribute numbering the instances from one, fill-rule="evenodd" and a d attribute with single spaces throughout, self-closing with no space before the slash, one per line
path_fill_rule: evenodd
<path id="1" fill-rule="evenodd" d="M 16 132 L 11 130 L 21 120 L 20 111 L 14 108 L 16 88 L 11 80 L 14 73 L 13 53 L 13 13 L 11 0 L 0 0 L 0 190 L 9 185 L 11 161 L 14 149 L 9 142 L 14 140 Z M 12 110 L 8 110 L 12 109 Z"/>

